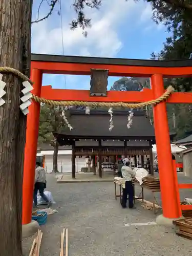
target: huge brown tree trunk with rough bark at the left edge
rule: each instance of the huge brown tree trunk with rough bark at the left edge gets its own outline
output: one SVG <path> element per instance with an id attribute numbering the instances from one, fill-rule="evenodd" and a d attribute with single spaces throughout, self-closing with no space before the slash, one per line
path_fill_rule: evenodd
<path id="1" fill-rule="evenodd" d="M 30 72 L 32 0 L 0 0 L 0 66 Z M 22 184 L 26 116 L 19 110 L 22 80 L 6 74 L 0 106 L 0 248 L 22 255 Z"/>

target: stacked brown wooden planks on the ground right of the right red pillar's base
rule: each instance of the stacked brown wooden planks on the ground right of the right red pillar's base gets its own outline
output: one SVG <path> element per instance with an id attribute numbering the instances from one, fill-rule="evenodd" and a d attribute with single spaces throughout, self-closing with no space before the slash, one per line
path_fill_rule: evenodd
<path id="1" fill-rule="evenodd" d="M 178 227 L 178 236 L 192 240 L 192 218 L 176 220 L 173 223 Z"/>

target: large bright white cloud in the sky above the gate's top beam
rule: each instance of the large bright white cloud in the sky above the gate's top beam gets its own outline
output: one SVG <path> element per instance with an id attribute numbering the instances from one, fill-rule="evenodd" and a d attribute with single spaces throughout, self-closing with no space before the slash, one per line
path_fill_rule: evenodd
<path id="1" fill-rule="evenodd" d="M 69 1 L 69 0 L 68 0 Z M 70 1 L 69 1 L 70 2 Z M 69 3 L 70 5 L 70 3 Z M 100 11 L 89 10 L 88 16 L 92 17 L 92 28 L 88 29 L 88 37 L 82 36 L 82 30 L 70 31 L 68 19 L 63 26 L 63 45 L 66 55 L 86 55 L 113 57 L 123 47 L 118 35 L 118 30 L 127 17 L 138 8 L 133 0 L 103 1 Z M 66 13 L 63 12 L 63 15 Z M 54 23 L 54 16 L 45 22 L 34 24 L 32 27 L 32 52 L 44 54 L 61 54 L 62 40 L 61 28 L 58 17 L 55 19 L 54 29 L 49 29 L 50 22 Z M 53 27 L 53 24 L 52 24 Z"/>

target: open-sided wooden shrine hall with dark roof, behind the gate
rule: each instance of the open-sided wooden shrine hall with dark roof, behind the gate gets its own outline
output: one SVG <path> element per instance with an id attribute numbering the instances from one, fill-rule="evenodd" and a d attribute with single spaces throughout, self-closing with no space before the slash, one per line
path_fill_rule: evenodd
<path id="1" fill-rule="evenodd" d="M 90 114 L 85 110 L 70 110 L 68 121 L 73 129 L 62 127 L 54 133 L 60 146 L 72 146 L 72 178 L 75 178 L 75 158 L 90 156 L 93 159 L 93 173 L 98 170 L 102 177 L 103 158 L 134 157 L 134 164 L 146 167 L 150 158 L 150 173 L 153 174 L 152 145 L 155 144 L 154 126 L 144 110 L 134 110 L 132 125 L 127 128 L 129 110 L 113 110 L 113 129 L 109 131 L 110 115 L 107 110 L 93 109 Z M 172 140 L 175 134 L 170 135 Z M 105 166 L 106 167 L 106 166 Z"/>

